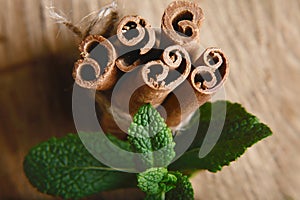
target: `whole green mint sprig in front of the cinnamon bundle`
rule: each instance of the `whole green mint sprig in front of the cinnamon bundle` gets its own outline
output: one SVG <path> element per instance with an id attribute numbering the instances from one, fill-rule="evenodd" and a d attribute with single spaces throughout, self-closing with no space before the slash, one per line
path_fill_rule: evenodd
<path id="1" fill-rule="evenodd" d="M 211 119 L 211 107 L 218 108 L 224 103 L 227 112 L 220 138 L 208 155 L 199 158 L 210 122 L 221 120 L 218 116 Z M 139 159 L 144 162 L 145 171 L 137 177 L 100 163 L 86 150 L 80 138 L 72 134 L 60 139 L 52 138 L 32 148 L 25 157 L 24 172 L 39 191 L 64 199 L 78 199 L 101 191 L 137 186 L 146 193 L 146 199 L 193 199 L 191 183 L 182 172 L 221 170 L 248 147 L 271 135 L 266 125 L 239 104 L 224 101 L 206 103 L 200 108 L 200 113 L 200 120 L 194 118 L 188 126 L 199 121 L 196 139 L 188 151 L 169 166 L 175 156 L 171 130 L 150 105 L 141 107 L 134 117 L 127 142 L 109 135 L 110 141 L 122 149 L 140 153 Z M 190 130 L 181 131 L 179 136 L 188 134 Z M 136 158 L 128 159 L 129 162 L 130 159 L 136 161 Z"/>

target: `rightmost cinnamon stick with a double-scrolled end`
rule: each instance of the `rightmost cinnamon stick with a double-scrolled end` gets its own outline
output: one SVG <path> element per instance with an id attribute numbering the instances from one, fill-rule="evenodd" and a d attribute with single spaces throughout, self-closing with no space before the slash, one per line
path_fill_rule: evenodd
<path id="1" fill-rule="evenodd" d="M 188 77 L 189 84 L 177 87 L 162 104 L 167 114 L 166 123 L 173 129 L 210 100 L 228 77 L 229 65 L 221 49 L 206 49 L 196 64 Z M 187 93 L 191 91 L 189 87 L 192 87 L 195 96 Z M 180 99 L 175 94 L 179 94 Z"/>

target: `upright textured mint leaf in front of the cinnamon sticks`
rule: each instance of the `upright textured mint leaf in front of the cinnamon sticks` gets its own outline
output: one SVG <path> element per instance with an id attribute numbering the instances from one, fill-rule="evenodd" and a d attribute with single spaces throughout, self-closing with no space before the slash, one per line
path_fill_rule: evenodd
<path id="1" fill-rule="evenodd" d="M 173 136 L 164 119 L 150 105 L 142 106 L 128 129 L 128 141 L 139 153 L 143 171 L 152 167 L 165 167 L 175 157 Z"/>

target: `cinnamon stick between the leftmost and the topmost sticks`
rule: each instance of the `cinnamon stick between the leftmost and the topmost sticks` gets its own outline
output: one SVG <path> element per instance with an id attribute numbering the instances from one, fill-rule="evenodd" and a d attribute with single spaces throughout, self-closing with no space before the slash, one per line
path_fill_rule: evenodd
<path id="1" fill-rule="evenodd" d="M 140 16 L 125 16 L 117 27 L 117 67 L 129 72 L 143 63 L 143 55 L 155 45 L 155 31 Z"/>

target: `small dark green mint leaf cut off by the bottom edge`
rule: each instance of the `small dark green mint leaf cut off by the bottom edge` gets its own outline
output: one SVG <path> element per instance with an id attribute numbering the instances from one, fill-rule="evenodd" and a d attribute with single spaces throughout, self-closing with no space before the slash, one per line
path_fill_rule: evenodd
<path id="1" fill-rule="evenodd" d="M 171 172 L 177 178 L 175 188 L 166 193 L 167 200 L 193 200 L 194 190 L 187 176 L 180 172 Z"/>

